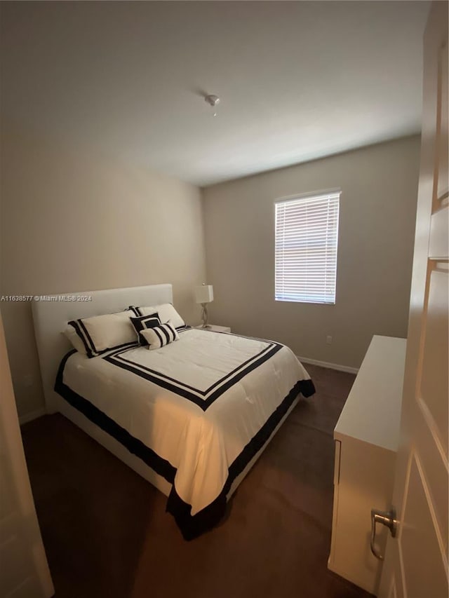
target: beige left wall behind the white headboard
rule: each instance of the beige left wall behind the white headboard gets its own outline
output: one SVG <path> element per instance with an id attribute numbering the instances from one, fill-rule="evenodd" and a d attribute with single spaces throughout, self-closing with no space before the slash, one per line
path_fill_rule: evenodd
<path id="1" fill-rule="evenodd" d="M 172 283 L 175 306 L 199 321 L 193 289 L 206 263 L 196 186 L 5 125 L 0 185 L 0 294 Z M 0 306 L 27 416 L 43 407 L 31 304 Z"/>

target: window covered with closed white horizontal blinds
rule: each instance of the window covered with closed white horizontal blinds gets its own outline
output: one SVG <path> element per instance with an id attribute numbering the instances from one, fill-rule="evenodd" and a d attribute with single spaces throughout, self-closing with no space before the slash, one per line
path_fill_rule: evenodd
<path id="1" fill-rule="evenodd" d="M 275 203 L 276 301 L 335 304 L 340 191 Z"/>

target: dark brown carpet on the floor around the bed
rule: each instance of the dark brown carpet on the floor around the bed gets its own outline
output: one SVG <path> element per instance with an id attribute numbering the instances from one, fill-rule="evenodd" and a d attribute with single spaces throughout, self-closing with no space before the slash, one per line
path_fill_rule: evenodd
<path id="1" fill-rule="evenodd" d="M 166 497 L 60 414 L 22 427 L 56 598 L 361 598 L 327 569 L 333 428 L 354 376 L 307 366 L 303 399 L 225 520 L 185 542 Z"/>

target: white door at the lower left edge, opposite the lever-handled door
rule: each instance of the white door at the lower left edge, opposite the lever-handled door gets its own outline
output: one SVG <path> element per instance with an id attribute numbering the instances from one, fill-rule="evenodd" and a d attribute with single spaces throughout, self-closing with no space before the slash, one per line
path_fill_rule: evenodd
<path id="1" fill-rule="evenodd" d="M 0 316 L 0 596 L 48 598 L 53 583 L 29 487 Z"/>

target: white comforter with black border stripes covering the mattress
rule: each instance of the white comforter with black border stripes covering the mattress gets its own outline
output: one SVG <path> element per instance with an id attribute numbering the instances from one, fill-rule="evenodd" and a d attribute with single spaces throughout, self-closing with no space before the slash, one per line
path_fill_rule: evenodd
<path id="1" fill-rule="evenodd" d="M 314 385 L 286 346 L 188 329 L 155 351 L 72 351 L 55 390 L 173 484 L 167 510 L 189 540 L 220 521 L 232 482 Z"/>

